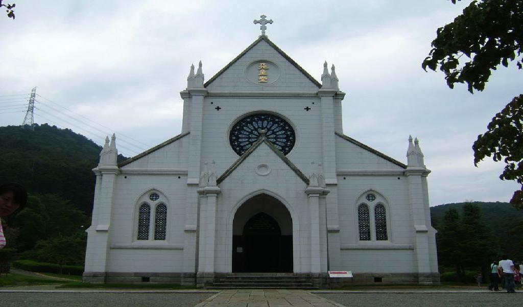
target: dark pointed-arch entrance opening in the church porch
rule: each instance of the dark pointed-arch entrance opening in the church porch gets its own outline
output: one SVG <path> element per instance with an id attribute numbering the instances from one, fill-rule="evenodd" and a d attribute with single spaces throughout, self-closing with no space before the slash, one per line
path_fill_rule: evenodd
<path id="1" fill-rule="evenodd" d="M 266 194 L 247 200 L 234 215 L 233 272 L 292 272 L 292 219 Z"/>

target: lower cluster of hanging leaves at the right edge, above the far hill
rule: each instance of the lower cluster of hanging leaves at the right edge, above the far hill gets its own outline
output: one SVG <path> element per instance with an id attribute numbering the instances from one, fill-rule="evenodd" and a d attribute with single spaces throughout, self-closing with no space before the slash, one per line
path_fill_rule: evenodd
<path id="1" fill-rule="evenodd" d="M 515 191 L 510 200 L 516 208 L 523 209 L 523 95 L 515 97 L 487 126 L 487 132 L 478 135 L 474 149 L 474 164 L 486 156 L 494 161 L 504 161 L 505 170 L 499 176 L 516 180 L 521 190 Z"/>

